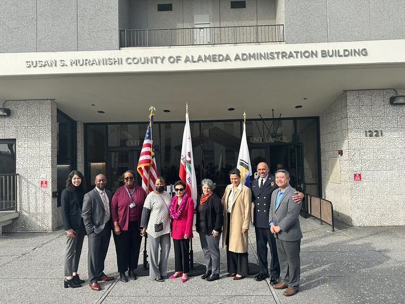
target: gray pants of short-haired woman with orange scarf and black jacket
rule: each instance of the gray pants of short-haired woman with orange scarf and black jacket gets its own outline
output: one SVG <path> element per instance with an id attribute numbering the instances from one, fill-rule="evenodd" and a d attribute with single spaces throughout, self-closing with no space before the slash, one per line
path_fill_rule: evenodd
<path id="1" fill-rule="evenodd" d="M 199 233 L 201 248 L 204 252 L 204 260 L 206 261 L 207 271 L 212 271 L 213 274 L 219 274 L 220 269 L 220 254 L 219 254 L 219 239 L 221 234 L 216 238 L 213 235 Z"/>

